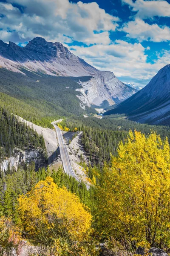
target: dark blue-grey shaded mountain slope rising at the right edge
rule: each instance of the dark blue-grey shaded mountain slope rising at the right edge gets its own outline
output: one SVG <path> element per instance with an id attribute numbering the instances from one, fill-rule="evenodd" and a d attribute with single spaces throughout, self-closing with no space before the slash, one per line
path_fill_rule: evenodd
<path id="1" fill-rule="evenodd" d="M 170 124 L 170 64 L 159 70 L 142 90 L 105 112 L 115 113 L 125 113 L 141 123 Z"/>

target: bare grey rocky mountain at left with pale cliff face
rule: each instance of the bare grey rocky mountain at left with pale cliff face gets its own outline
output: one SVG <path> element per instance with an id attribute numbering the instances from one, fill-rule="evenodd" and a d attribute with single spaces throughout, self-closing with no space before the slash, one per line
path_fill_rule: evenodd
<path id="1" fill-rule="evenodd" d="M 0 66 L 14 72 L 22 72 L 21 68 L 24 68 L 53 76 L 92 76 L 93 79 L 88 82 L 80 81 L 84 90 L 81 91 L 82 97 L 79 97 L 82 108 L 85 105 L 100 105 L 104 100 L 113 105 L 137 92 L 119 81 L 112 72 L 92 67 L 61 43 L 47 42 L 40 37 L 31 40 L 26 47 L 0 40 Z"/>

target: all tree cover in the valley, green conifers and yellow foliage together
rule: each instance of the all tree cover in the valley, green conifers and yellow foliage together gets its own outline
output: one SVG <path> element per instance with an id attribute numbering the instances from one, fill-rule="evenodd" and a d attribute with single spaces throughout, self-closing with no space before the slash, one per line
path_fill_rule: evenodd
<path id="1" fill-rule="evenodd" d="M 37 148 L 45 157 L 43 137 L 14 114 L 48 127 L 52 127 L 53 119 L 64 116 L 60 128 L 83 131 L 82 145 L 88 161 L 81 155 L 79 165 L 91 188 L 87 190 L 84 183 L 66 175 L 62 168 L 51 172 L 49 167 L 42 167 L 35 172 L 34 162 L 22 163 L 17 170 L 8 166 L 5 174 L 0 172 L 0 253 L 11 247 L 19 253 L 23 239 L 41 248 L 39 256 L 54 256 L 55 250 L 57 256 L 96 256 L 101 242 L 112 251 L 116 248 L 120 255 L 134 255 L 140 244 L 168 252 L 164 225 L 168 225 L 169 192 L 164 196 L 164 189 L 170 180 L 170 128 L 133 122 L 125 115 L 84 118 L 87 111 L 95 111 L 80 108 L 74 90 L 79 84 L 73 78 L 42 78 L 32 73 L 17 76 L 19 82 L 11 72 L 3 85 L 0 82 L 0 161 L 11 157 L 15 148 Z M 150 193 L 149 199 L 144 198 L 145 192 Z M 157 212 L 155 207 L 160 201 L 163 203 Z M 140 206 L 136 207 L 138 202 Z M 152 224 L 154 221 L 159 228 Z M 126 227 L 131 229 L 130 235 Z M 157 230 L 165 237 L 157 235 Z"/>

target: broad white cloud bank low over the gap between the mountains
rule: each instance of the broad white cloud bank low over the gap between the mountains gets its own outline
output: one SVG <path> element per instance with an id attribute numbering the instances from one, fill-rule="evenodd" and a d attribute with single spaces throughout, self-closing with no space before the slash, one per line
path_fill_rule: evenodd
<path id="1" fill-rule="evenodd" d="M 105 46 L 72 46 L 70 49 L 97 69 L 113 71 L 122 81 L 128 78 L 138 86 L 146 85 L 162 67 L 169 64 L 170 60 L 170 51 L 163 50 L 158 54 L 154 64 L 148 63 L 148 47 L 144 48 L 140 43 L 132 44 L 122 40 Z"/>

